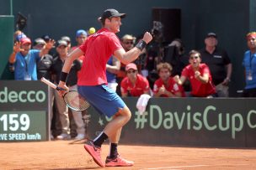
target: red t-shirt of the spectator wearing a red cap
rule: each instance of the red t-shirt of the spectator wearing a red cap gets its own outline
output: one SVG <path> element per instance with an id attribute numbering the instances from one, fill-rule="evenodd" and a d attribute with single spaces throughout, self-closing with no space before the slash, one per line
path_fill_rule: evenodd
<path id="1" fill-rule="evenodd" d="M 149 83 L 142 75 L 137 75 L 136 84 L 132 85 L 131 80 L 125 77 L 121 81 L 121 92 L 130 93 L 131 96 L 140 96 L 144 94 L 144 91 L 149 90 Z"/>

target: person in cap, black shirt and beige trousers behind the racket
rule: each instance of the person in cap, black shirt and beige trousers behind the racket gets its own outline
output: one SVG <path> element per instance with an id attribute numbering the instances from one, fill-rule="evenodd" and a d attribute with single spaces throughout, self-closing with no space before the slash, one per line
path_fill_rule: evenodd
<path id="1" fill-rule="evenodd" d="M 61 69 L 64 62 L 67 60 L 67 42 L 64 40 L 58 40 L 56 44 L 56 58 L 53 60 L 53 64 L 51 65 L 51 73 L 54 77 L 54 82 L 56 84 L 60 81 Z M 81 70 L 81 63 L 75 59 L 72 63 L 72 67 L 70 70 L 70 75 L 67 79 L 67 86 L 70 90 L 77 90 L 77 72 Z M 70 120 L 68 117 L 68 108 L 65 104 L 64 100 L 60 95 L 58 95 L 55 90 L 55 98 L 56 98 L 56 108 L 59 113 L 60 121 L 61 121 L 61 134 L 56 138 L 63 140 L 69 139 L 70 136 Z M 83 122 L 83 117 L 81 111 L 73 111 L 72 116 L 77 125 L 77 137 L 75 139 L 80 140 L 85 137 L 85 125 Z"/>

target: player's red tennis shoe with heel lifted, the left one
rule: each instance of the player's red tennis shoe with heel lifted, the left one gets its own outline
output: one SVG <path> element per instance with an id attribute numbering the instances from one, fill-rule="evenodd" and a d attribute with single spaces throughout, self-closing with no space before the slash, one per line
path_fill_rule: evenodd
<path id="1" fill-rule="evenodd" d="M 93 157 L 93 161 L 96 162 L 99 167 L 105 167 L 104 162 L 101 160 L 101 148 L 93 145 L 93 142 L 88 142 L 84 145 L 84 149 Z"/>

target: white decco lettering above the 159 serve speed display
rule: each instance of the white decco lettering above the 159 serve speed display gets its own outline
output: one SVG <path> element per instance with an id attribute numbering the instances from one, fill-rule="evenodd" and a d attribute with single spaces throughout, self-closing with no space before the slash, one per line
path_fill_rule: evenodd
<path id="1" fill-rule="evenodd" d="M 16 103 L 16 102 L 44 102 L 46 99 L 45 91 L 43 90 L 21 90 L 19 92 L 11 90 L 8 91 L 8 87 L 4 87 L 3 90 L 0 90 L 0 103 Z"/>

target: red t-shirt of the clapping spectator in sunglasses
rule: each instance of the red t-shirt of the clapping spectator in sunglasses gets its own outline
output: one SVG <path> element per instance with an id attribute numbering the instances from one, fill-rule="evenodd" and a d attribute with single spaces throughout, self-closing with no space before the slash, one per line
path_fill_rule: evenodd
<path id="1" fill-rule="evenodd" d="M 206 97 L 208 95 L 215 94 L 216 89 L 212 83 L 211 72 L 209 70 L 209 67 L 206 64 L 200 64 L 199 72 L 200 75 L 204 75 L 205 73 L 209 75 L 208 83 L 202 84 L 200 80 L 195 79 L 195 70 L 193 70 L 190 64 L 187 65 L 182 71 L 181 75 L 184 75 L 190 81 L 192 88 L 191 95 L 198 97 Z"/>

